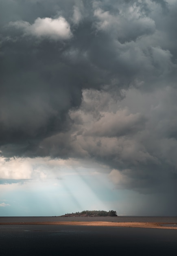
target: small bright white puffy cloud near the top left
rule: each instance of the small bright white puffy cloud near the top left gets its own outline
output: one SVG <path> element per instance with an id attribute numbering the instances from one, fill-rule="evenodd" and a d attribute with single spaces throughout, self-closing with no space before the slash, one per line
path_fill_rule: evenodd
<path id="1" fill-rule="evenodd" d="M 60 40 L 72 37 L 70 24 L 61 16 L 56 19 L 37 18 L 32 25 L 23 20 L 10 22 L 9 25 L 24 30 L 25 35 L 33 35 L 37 38 L 48 37 L 53 40 Z"/>

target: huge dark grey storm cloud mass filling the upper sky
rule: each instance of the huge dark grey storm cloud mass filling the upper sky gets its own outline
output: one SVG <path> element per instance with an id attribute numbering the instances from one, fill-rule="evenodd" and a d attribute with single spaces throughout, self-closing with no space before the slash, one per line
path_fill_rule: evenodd
<path id="1" fill-rule="evenodd" d="M 144 193 L 174 184 L 177 4 L 1 5 L 2 155 L 92 158 Z"/>

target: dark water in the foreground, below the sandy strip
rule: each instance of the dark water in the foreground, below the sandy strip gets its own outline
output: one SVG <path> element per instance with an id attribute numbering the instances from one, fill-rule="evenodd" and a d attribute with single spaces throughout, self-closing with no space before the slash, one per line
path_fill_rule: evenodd
<path id="1" fill-rule="evenodd" d="M 34 219 L 28 221 L 34 221 Z M 44 220 L 41 219 L 41 221 Z M 0 225 L 0 256 L 40 255 L 176 256 L 177 230 L 67 225 Z"/>

